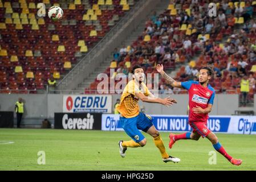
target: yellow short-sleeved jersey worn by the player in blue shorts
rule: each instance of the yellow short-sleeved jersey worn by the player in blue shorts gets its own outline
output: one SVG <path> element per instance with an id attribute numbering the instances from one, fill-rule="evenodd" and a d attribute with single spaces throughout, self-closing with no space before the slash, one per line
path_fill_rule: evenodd
<path id="1" fill-rule="evenodd" d="M 133 118 L 140 113 L 139 98 L 135 96 L 135 93 L 143 93 L 145 96 L 151 94 L 144 82 L 141 83 L 141 88 L 139 88 L 139 84 L 136 84 L 135 80 L 129 81 L 124 88 L 120 105 L 117 107 L 119 113 L 125 118 Z"/>

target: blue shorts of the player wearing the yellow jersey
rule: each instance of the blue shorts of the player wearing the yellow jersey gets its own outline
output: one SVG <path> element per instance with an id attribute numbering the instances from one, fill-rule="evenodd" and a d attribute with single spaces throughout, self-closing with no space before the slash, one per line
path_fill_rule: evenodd
<path id="1" fill-rule="evenodd" d="M 147 133 L 148 129 L 153 126 L 152 118 L 144 113 L 140 113 L 133 118 L 120 117 L 120 122 L 125 133 L 137 143 L 145 138 L 139 130 Z"/>

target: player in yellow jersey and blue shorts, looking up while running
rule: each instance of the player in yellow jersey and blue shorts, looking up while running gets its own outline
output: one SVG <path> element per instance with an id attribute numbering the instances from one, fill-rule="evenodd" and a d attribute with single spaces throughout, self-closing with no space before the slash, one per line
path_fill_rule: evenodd
<path id="1" fill-rule="evenodd" d="M 127 147 L 143 147 L 147 143 L 146 138 L 139 130 L 148 133 L 153 137 L 155 145 L 159 148 L 162 160 L 166 162 L 177 163 L 180 159 L 174 158 L 167 154 L 164 143 L 160 137 L 159 131 L 156 130 L 149 115 L 140 112 L 139 100 L 149 103 L 159 103 L 170 106 L 177 103 L 175 100 L 166 97 L 164 99 L 153 96 L 144 84 L 144 71 L 139 65 L 132 69 L 133 80 L 125 86 L 121 96 L 120 105 L 117 110 L 120 113 L 120 122 L 125 131 L 132 138 L 129 141 L 119 141 L 120 155 L 124 158 Z"/>

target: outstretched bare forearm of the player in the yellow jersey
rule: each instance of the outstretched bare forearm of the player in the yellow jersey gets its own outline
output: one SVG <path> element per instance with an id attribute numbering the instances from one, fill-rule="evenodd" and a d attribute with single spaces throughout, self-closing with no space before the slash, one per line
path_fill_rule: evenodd
<path id="1" fill-rule="evenodd" d="M 177 103 L 176 100 L 173 100 L 170 97 L 159 98 L 159 97 L 153 96 L 153 94 L 149 94 L 149 96 L 145 96 L 143 93 L 135 93 L 135 96 L 138 97 L 143 102 L 159 103 L 165 106 L 171 106 L 173 105 L 173 103 Z"/>

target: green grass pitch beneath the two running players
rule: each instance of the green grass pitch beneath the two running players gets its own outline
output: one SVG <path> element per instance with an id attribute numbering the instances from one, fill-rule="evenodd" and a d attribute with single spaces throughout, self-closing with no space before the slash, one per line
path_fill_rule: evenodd
<path id="1" fill-rule="evenodd" d="M 256 135 L 217 134 L 226 151 L 243 160 L 233 166 L 218 152 L 217 164 L 209 164 L 214 148 L 208 139 L 180 140 L 169 150 L 169 133 L 160 134 L 168 153 L 180 163 L 162 162 L 148 134 L 145 147 L 128 148 L 121 158 L 117 143 L 130 139 L 124 132 L 0 129 L 0 170 L 256 170 Z M 45 165 L 38 164 L 38 151 L 45 152 Z"/>

